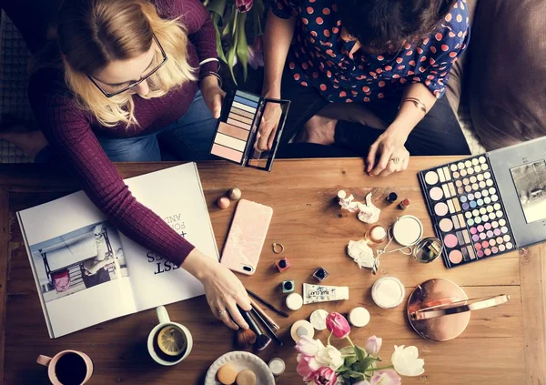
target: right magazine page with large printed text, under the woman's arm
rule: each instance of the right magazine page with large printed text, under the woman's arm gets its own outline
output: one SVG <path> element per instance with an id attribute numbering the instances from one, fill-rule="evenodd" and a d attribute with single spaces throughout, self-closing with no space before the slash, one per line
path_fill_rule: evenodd
<path id="1" fill-rule="evenodd" d="M 143 205 L 210 258 L 219 258 L 195 163 L 126 179 Z M 138 311 L 204 294 L 201 283 L 167 259 L 122 235 Z"/>

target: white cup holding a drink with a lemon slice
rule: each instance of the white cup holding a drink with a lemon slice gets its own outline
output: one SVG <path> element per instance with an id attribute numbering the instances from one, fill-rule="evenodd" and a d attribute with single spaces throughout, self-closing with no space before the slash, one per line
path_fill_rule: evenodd
<path id="1" fill-rule="evenodd" d="M 157 321 L 159 323 L 150 331 L 147 339 L 150 357 L 165 366 L 185 360 L 193 347 L 189 330 L 184 325 L 172 322 L 164 306 L 157 308 Z"/>

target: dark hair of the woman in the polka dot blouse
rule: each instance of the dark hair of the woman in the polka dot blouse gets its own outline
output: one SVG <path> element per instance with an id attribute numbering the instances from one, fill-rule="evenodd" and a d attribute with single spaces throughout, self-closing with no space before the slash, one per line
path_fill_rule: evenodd
<path id="1" fill-rule="evenodd" d="M 341 25 L 362 46 L 385 52 L 434 32 L 457 0 L 341 0 Z"/>

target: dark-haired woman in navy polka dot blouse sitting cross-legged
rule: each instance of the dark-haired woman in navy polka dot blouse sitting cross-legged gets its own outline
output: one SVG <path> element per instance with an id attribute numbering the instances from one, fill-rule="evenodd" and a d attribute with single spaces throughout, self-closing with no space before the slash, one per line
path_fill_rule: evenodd
<path id="1" fill-rule="evenodd" d="M 380 176 L 410 154 L 470 154 L 442 97 L 469 39 L 466 0 L 274 0 L 263 92 L 292 101 L 281 143 L 335 142 Z M 258 147 L 277 116 L 268 108 Z"/>

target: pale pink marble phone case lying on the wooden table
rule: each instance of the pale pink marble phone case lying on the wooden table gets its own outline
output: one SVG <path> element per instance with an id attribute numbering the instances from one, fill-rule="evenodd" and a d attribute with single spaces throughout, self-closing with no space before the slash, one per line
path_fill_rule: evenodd
<path id="1" fill-rule="evenodd" d="M 238 273 L 254 274 L 268 235 L 273 208 L 241 199 L 227 234 L 220 263 Z"/>

